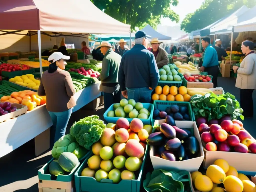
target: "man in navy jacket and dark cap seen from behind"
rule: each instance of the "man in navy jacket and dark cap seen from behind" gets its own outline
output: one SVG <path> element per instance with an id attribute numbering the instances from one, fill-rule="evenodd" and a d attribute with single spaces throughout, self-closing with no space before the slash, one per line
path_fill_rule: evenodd
<path id="1" fill-rule="evenodd" d="M 148 38 L 144 31 L 135 34 L 135 45 L 123 54 L 118 72 L 122 95 L 142 103 L 150 103 L 159 81 L 155 56 L 146 49 Z"/>

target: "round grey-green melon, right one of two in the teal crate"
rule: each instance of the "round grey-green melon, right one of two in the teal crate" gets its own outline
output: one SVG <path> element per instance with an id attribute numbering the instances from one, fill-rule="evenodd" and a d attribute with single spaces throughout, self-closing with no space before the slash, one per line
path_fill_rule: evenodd
<path id="1" fill-rule="evenodd" d="M 79 161 L 75 154 L 70 152 L 61 153 L 59 157 L 59 165 L 66 172 L 71 172 L 78 164 Z"/>

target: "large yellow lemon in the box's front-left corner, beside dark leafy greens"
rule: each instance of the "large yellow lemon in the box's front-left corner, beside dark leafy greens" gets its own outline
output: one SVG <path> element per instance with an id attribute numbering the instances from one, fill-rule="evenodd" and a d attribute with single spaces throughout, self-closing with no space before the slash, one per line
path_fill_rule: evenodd
<path id="1" fill-rule="evenodd" d="M 201 192 L 209 192 L 212 190 L 212 181 L 206 175 L 198 175 L 195 179 L 195 187 Z"/>

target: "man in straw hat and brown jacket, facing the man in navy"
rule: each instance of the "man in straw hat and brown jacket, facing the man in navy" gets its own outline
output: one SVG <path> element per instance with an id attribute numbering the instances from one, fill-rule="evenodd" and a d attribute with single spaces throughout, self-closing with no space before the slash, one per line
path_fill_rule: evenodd
<path id="1" fill-rule="evenodd" d="M 159 41 L 158 38 L 152 38 L 152 40 L 150 41 L 152 48 L 149 48 L 149 50 L 155 56 L 156 64 L 159 69 L 164 65 L 167 65 L 169 62 L 167 52 L 163 48 L 159 47 L 161 43 L 162 42 Z"/>

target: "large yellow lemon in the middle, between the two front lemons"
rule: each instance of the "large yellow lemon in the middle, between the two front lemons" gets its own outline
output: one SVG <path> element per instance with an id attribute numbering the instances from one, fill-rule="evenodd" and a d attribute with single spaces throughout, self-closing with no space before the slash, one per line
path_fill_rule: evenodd
<path id="1" fill-rule="evenodd" d="M 210 165 L 206 170 L 206 176 L 209 177 L 213 183 L 220 184 L 224 181 L 226 174 L 218 165 Z"/>

